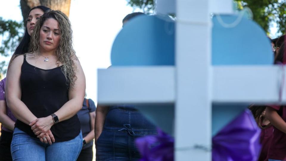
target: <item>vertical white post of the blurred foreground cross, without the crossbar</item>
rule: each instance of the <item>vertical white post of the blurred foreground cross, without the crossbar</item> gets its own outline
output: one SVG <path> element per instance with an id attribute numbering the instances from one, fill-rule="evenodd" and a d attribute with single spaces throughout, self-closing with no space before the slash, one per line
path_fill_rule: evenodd
<path id="1" fill-rule="evenodd" d="M 177 1 L 175 160 L 210 160 L 209 1 Z M 209 150 L 194 148 L 196 145 Z"/>

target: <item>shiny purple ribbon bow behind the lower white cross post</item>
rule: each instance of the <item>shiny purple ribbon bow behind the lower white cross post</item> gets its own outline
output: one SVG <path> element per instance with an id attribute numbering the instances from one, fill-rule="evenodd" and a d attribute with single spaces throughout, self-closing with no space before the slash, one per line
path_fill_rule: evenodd
<path id="1" fill-rule="evenodd" d="M 246 109 L 212 138 L 212 160 L 257 160 L 261 149 L 260 131 Z M 140 137 L 135 142 L 142 156 L 140 161 L 174 160 L 174 139 L 160 129 L 158 135 Z"/>

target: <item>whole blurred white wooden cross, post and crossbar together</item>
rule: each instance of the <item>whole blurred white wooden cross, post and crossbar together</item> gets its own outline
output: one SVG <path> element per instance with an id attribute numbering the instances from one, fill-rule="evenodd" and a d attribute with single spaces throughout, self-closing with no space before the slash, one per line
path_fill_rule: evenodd
<path id="1" fill-rule="evenodd" d="M 211 160 L 212 103 L 285 103 L 281 68 L 212 66 L 210 13 L 232 13 L 232 0 L 175 4 L 176 65 L 99 69 L 98 103 L 174 103 L 175 160 Z"/>

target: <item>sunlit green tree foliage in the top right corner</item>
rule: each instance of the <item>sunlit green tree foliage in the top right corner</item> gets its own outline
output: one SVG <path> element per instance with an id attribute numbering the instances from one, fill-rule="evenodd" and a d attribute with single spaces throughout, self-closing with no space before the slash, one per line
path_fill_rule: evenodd
<path id="1" fill-rule="evenodd" d="M 253 19 L 269 33 L 271 23 L 277 23 L 278 32 L 285 33 L 286 0 L 234 0 L 237 9 L 249 7 Z"/>

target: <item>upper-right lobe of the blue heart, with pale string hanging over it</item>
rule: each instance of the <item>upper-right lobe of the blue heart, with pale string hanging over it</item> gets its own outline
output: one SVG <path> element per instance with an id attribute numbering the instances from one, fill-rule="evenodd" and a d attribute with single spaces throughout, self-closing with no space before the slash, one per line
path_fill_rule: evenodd
<path id="1" fill-rule="evenodd" d="M 270 41 L 262 28 L 243 17 L 235 27 L 223 27 L 233 23 L 237 15 L 219 15 L 212 18 L 212 65 L 269 65 L 274 55 Z"/>

